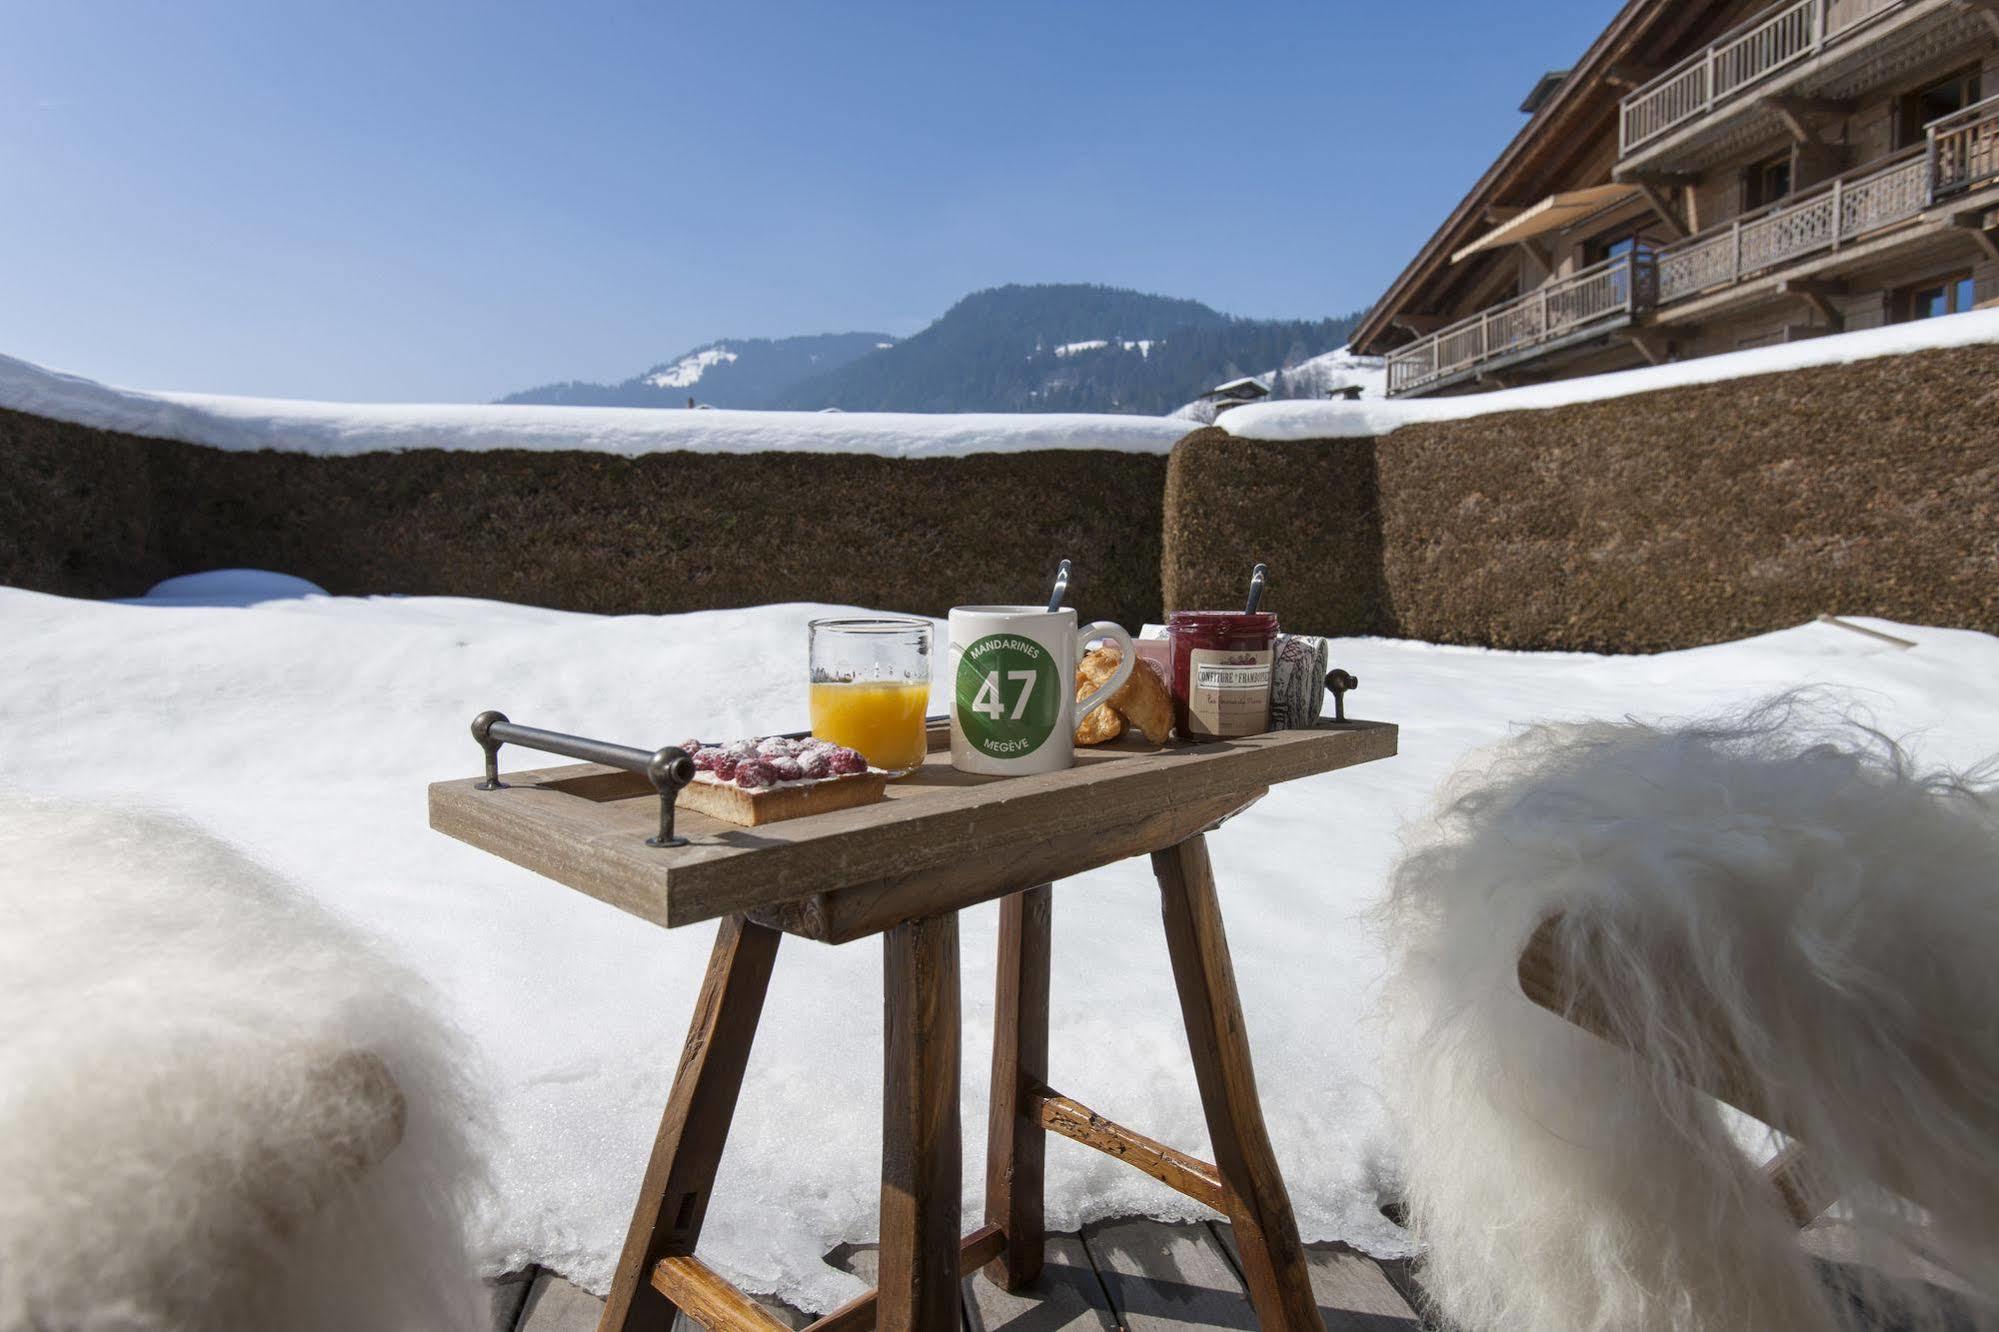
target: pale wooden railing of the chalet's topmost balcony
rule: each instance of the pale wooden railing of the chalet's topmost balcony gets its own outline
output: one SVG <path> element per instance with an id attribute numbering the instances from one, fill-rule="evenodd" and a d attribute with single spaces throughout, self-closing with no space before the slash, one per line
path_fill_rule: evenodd
<path id="1" fill-rule="evenodd" d="M 1913 0 L 1795 0 L 1757 14 L 1623 100 L 1619 156 L 1699 120 L 1903 4 Z"/>

